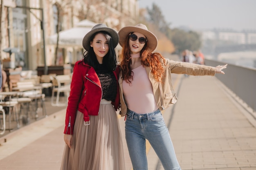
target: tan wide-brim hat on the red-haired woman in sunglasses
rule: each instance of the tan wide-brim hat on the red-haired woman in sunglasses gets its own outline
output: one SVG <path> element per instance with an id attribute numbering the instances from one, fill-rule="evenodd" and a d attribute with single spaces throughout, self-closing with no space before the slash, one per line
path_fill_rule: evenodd
<path id="1" fill-rule="evenodd" d="M 123 47 L 126 37 L 129 33 L 138 32 L 142 33 L 148 39 L 148 48 L 150 49 L 150 53 L 155 51 L 157 48 L 157 37 L 148 31 L 148 28 L 144 24 L 137 24 L 136 26 L 125 26 L 118 32 L 119 35 L 119 44 Z"/>

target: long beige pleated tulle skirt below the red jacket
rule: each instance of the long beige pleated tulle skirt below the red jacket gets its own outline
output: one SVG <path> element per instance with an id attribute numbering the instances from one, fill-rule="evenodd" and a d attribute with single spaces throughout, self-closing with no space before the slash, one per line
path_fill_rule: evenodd
<path id="1" fill-rule="evenodd" d="M 99 110 L 87 126 L 83 113 L 77 111 L 72 146 L 64 148 L 61 170 L 125 170 L 117 113 L 104 99 Z"/>

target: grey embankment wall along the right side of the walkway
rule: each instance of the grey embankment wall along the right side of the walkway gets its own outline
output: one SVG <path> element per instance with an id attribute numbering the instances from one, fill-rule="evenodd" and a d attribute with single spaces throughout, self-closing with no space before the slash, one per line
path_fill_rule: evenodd
<path id="1" fill-rule="evenodd" d="M 228 64 L 223 70 L 225 76 L 216 74 L 216 77 L 227 88 L 233 91 L 240 99 L 243 100 L 250 108 L 256 111 L 256 69 L 236 66 L 229 63 L 205 60 L 208 66 L 218 66 Z"/>

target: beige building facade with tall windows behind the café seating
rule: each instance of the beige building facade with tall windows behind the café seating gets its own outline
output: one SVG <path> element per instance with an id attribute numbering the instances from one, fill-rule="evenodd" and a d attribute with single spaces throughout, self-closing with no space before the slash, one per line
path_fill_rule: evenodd
<path id="1" fill-rule="evenodd" d="M 10 0 L 15 6 L 3 3 L 1 49 L 16 49 L 10 53 L 1 50 L 1 60 L 15 63 L 24 70 L 38 66 L 73 64 L 81 60 L 81 45 L 50 43 L 53 35 L 70 30 L 83 21 L 105 23 L 119 30 L 134 25 L 139 15 L 137 0 Z M 58 30 L 58 31 L 57 31 Z M 81 35 L 83 38 L 84 35 Z"/>

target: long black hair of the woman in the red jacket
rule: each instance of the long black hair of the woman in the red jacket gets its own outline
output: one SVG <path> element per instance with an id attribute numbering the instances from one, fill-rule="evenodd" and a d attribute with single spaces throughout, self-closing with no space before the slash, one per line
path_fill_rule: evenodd
<path id="1" fill-rule="evenodd" d="M 110 34 L 106 31 L 96 32 L 92 35 L 90 42 L 92 42 L 94 37 L 99 33 L 102 33 L 106 37 L 106 39 L 108 41 L 108 47 L 109 47 L 108 53 L 103 57 L 103 65 L 109 71 L 113 71 L 117 67 L 117 55 L 115 53 L 115 47 L 113 45 L 112 37 L 110 36 Z M 93 48 L 91 46 L 88 51 L 85 51 L 83 53 L 83 56 L 84 56 L 83 61 L 85 63 L 89 64 L 94 69 L 97 69 L 99 67 L 99 62 L 98 62 L 97 57 L 96 57 L 96 55 L 93 51 Z"/>

